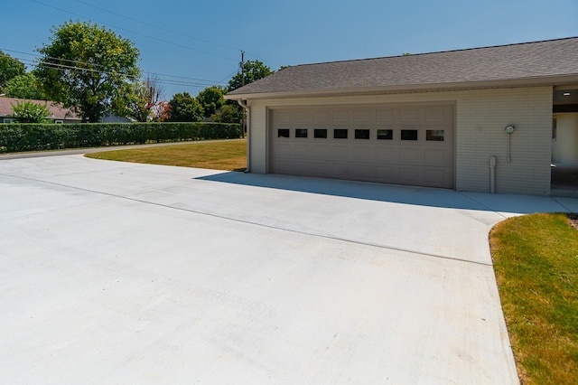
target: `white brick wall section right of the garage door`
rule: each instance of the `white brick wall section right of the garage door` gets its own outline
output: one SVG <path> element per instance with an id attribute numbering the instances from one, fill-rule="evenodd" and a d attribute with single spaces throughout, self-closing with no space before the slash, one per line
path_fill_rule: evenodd
<path id="1" fill-rule="evenodd" d="M 462 92 L 457 108 L 459 190 L 489 191 L 489 156 L 498 158 L 497 192 L 550 193 L 552 89 L 487 89 Z M 508 134 L 511 163 L 508 163 Z"/>

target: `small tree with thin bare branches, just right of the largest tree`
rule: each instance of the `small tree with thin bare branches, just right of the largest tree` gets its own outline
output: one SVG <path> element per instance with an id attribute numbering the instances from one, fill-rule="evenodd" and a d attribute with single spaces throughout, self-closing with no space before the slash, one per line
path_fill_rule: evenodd
<path id="1" fill-rule="evenodd" d="M 163 88 L 156 76 L 134 84 L 132 92 L 127 93 L 126 116 L 138 122 L 147 122 L 154 118 L 156 108 L 161 104 Z"/>

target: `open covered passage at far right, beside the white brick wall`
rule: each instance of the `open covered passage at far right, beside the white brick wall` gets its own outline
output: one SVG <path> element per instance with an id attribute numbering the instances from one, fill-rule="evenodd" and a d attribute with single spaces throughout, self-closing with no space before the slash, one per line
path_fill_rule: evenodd
<path id="1" fill-rule="evenodd" d="M 553 101 L 550 191 L 578 197 L 578 85 L 556 87 Z"/>

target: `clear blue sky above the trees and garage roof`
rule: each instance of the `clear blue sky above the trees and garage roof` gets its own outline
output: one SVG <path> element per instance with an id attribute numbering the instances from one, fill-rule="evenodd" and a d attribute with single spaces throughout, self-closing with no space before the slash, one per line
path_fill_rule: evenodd
<path id="1" fill-rule="evenodd" d="M 135 42 L 165 99 L 226 85 L 246 60 L 342 61 L 578 36 L 577 0 L 18 0 L 2 5 L 0 50 L 28 63 L 68 20 Z"/>

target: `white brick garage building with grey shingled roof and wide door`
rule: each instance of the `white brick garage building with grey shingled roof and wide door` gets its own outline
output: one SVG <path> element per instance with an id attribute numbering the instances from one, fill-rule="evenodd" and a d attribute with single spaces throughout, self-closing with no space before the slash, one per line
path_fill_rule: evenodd
<path id="1" fill-rule="evenodd" d="M 225 98 L 252 173 L 547 195 L 551 162 L 578 164 L 578 38 L 298 65 Z"/>

